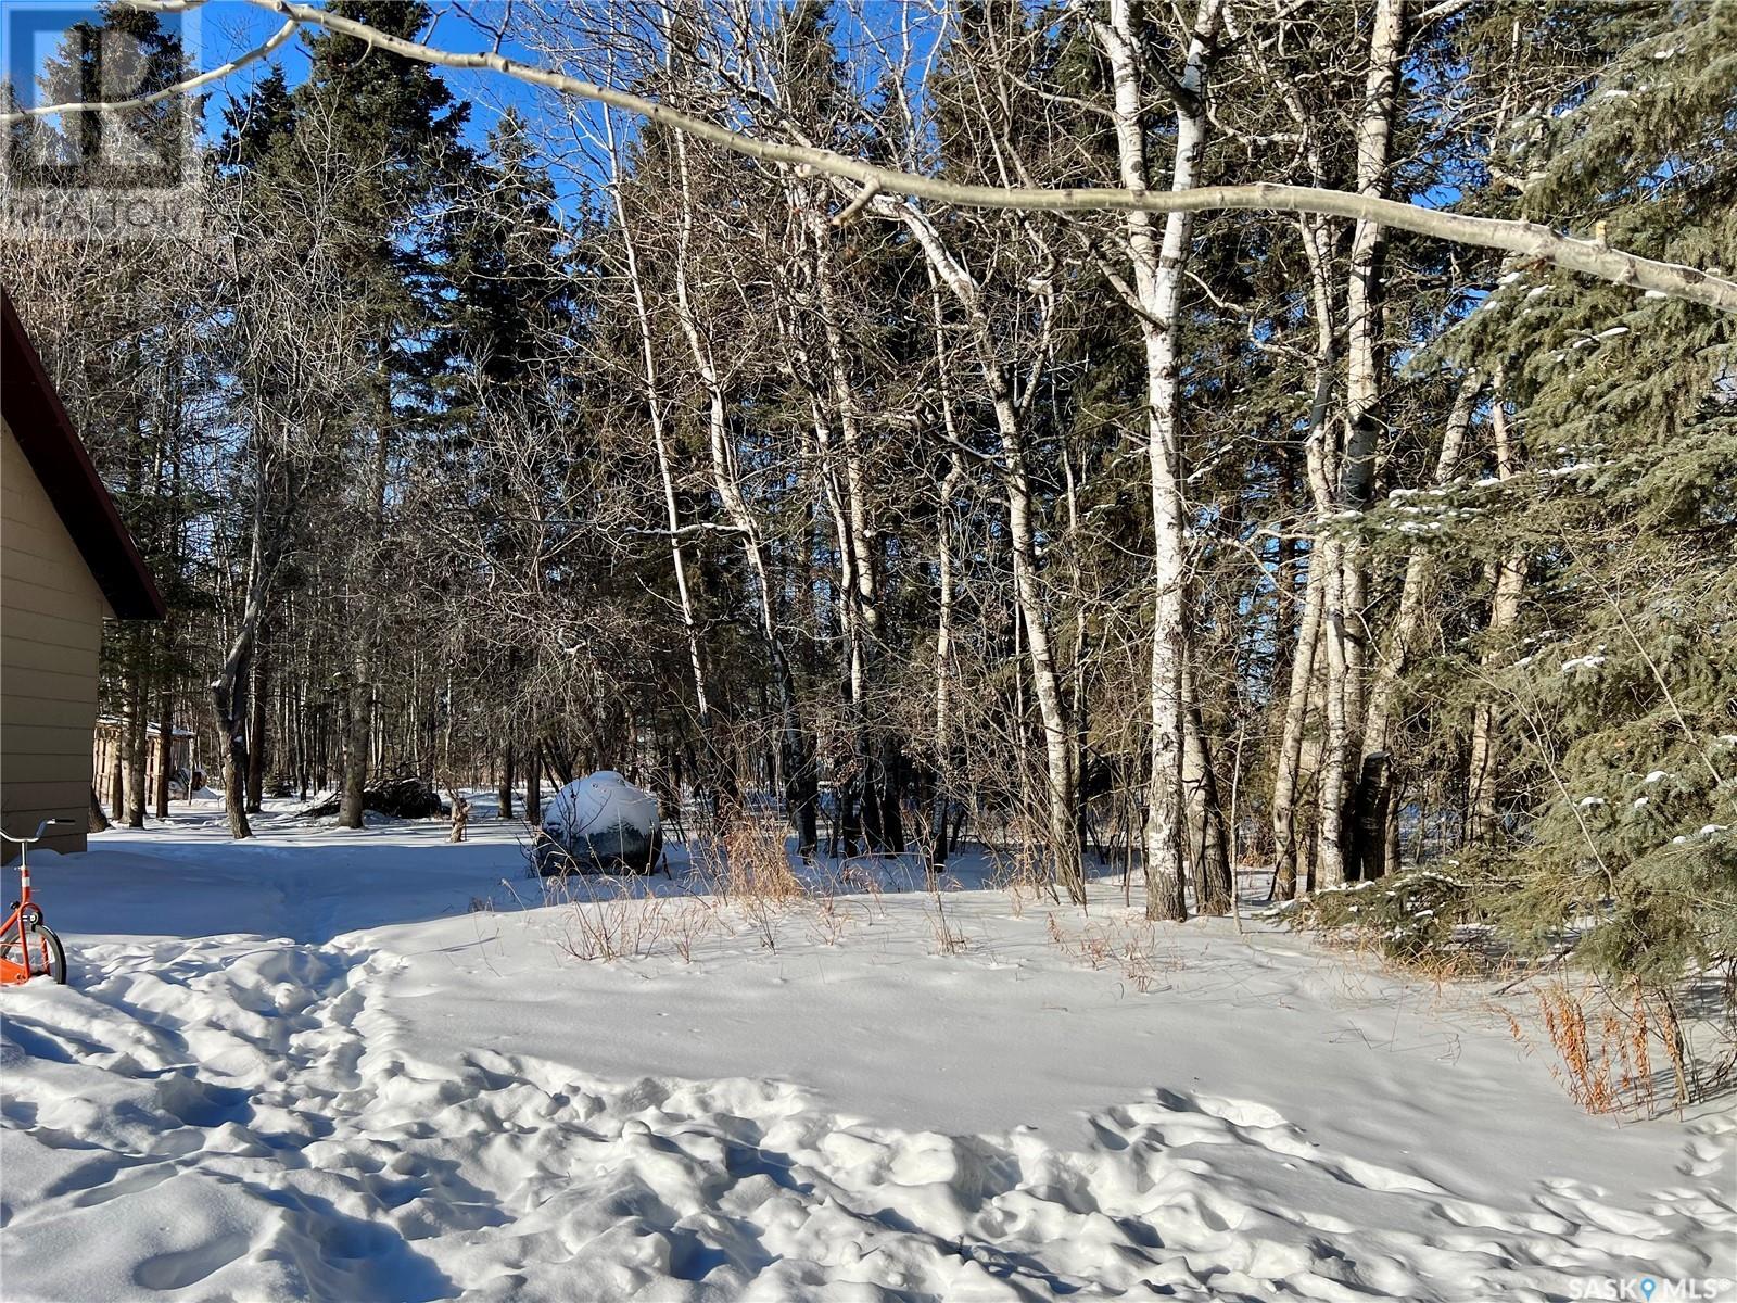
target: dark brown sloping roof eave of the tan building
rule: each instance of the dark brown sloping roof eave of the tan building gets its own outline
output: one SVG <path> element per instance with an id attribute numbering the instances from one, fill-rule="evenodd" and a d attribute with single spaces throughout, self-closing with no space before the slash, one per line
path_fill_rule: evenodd
<path id="1" fill-rule="evenodd" d="M 109 610 L 122 620 L 162 620 L 168 608 L 156 580 L 73 429 L 5 288 L 0 288 L 0 412 L 12 438 L 78 544 Z"/>

